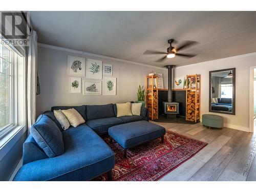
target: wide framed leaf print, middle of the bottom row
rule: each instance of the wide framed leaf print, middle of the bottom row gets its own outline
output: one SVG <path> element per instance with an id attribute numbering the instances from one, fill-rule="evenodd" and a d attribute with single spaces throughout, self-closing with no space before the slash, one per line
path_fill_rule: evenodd
<path id="1" fill-rule="evenodd" d="M 83 95 L 101 95 L 101 81 L 83 81 Z"/>

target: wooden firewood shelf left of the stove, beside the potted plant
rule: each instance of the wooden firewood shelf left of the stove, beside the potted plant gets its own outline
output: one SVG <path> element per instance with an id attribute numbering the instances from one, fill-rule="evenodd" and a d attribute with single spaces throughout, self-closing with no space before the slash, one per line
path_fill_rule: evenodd
<path id="1" fill-rule="evenodd" d="M 158 77 L 155 75 L 146 77 L 146 107 L 150 119 L 158 119 Z"/>

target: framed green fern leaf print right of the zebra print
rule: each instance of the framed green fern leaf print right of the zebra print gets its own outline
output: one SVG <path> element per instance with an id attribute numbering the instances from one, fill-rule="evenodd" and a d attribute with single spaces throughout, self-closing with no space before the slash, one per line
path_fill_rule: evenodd
<path id="1" fill-rule="evenodd" d="M 102 61 L 87 59 L 87 78 L 102 79 Z"/>

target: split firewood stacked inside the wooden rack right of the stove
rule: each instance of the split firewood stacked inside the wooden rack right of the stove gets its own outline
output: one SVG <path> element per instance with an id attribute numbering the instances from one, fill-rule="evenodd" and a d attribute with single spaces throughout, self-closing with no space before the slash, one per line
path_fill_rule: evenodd
<path id="1" fill-rule="evenodd" d="M 196 99 L 197 99 L 197 106 L 196 106 Z M 199 117 L 199 95 L 196 98 L 196 92 L 190 91 L 187 94 L 187 120 L 195 121 L 195 119 L 200 120 Z M 196 115 L 197 114 L 197 115 Z"/>

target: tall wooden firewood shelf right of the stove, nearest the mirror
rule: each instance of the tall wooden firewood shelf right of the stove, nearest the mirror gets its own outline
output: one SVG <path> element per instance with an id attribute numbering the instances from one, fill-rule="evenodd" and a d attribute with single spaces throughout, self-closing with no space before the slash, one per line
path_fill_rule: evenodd
<path id="1" fill-rule="evenodd" d="M 195 83 L 192 83 L 195 78 Z M 186 120 L 200 122 L 201 75 L 186 76 Z"/>

